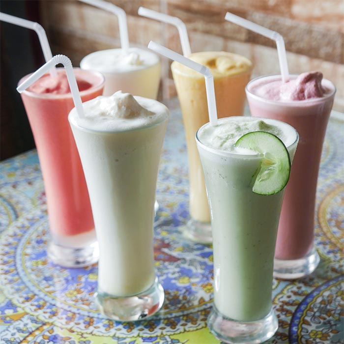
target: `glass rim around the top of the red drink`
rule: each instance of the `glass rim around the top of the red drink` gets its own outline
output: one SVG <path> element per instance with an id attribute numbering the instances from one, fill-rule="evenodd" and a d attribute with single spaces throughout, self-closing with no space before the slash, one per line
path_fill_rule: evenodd
<path id="1" fill-rule="evenodd" d="M 64 69 L 64 67 L 57 67 L 57 71 L 60 71 Z M 105 85 L 105 77 L 101 72 L 97 72 L 95 70 L 85 70 L 82 69 L 80 67 L 73 67 L 73 70 L 77 69 L 80 70 L 82 72 L 86 72 L 86 73 L 92 73 L 93 75 L 96 75 L 97 77 L 99 77 L 99 83 L 92 85 L 90 88 L 85 89 L 84 91 L 80 91 L 80 96 L 83 97 L 84 95 L 87 95 L 91 92 L 95 92 L 99 89 L 101 89 L 102 87 L 104 87 Z M 32 75 L 33 73 L 29 73 L 27 75 L 25 75 L 23 78 L 21 78 L 18 82 L 18 85 L 20 85 L 23 81 L 25 81 L 27 78 L 29 78 L 30 75 Z M 48 74 L 48 73 L 46 73 Z M 23 94 L 26 94 L 32 98 L 41 98 L 41 99 L 72 99 L 72 93 L 63 93 L 63 94 L 54 94 L 54 93 L 35 93 L 32 91 L 28 91 L 27 89 L 24 90 L 22 92 Z"/>

